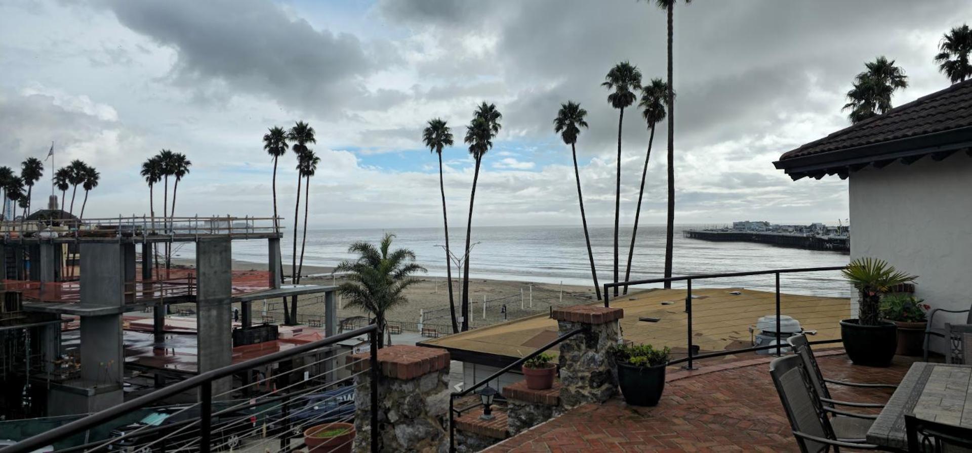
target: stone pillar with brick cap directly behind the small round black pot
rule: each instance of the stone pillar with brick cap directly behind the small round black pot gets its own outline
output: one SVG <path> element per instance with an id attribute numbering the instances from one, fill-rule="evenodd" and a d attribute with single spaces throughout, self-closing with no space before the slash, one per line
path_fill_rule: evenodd
<path id="1" fill-rule="evenodd" d="M 553 310 L 563 335 L 578 327 L 587 330 L 560 343 L 561 404 L 570 408 L 584 403 L 604 403 L 617 392 L 608 348 L 621 340 L 618 319 L 621 308 L 574 306 Z"/>

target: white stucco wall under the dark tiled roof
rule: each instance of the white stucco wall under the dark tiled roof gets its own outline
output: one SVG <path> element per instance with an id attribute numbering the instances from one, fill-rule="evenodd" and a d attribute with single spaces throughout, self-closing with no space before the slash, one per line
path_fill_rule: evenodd
<path id="1" fill-rule="evenodd" d="M 851 259 L 880 258 L 919 275 L 916 294 L 931 307 L 972 306 L 972 157 L 852 173 L 850 198 Z M 965 322 L 939 315 L 936 325 Z"/>

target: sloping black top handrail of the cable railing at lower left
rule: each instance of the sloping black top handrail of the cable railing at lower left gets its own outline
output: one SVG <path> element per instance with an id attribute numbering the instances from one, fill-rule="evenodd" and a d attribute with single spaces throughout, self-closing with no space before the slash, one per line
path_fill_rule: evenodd
<path id="1" fill-rule="evenodd" d="M 232 375 L 235 372 L 242 372 L 242 371 L 258 368 L 262 365 L 279 362 L 283 359 L 295 357 L 304 352 L 318 349 L 322 346 L 327 346 L 336 343 L 338 341 L 350 340 L 366 334 L 376 335 L 377 332 L 378 332 L 378 326 L 375 324 L 370 324 L 361 329 L 355 329 L 353 331 L 345 332 L 343 334 L 338 334 L 323 340 L 317 340 L 314 342 L 301 344 L 287 350 L 274 352 L 272 354 L 267 354 L 262 357 L 250 359 L 245 362 L 229 365 L 216 370 L 211 370 L 209 372 L 201 372 L 199 374 L 190 377 L 189 379 L 177 382 L 167 387 L 162 387 L 161 389 L 158 389 L 155 392 L 152 392 L 148 395 L 143 395 L 134 400 L 101 410 L 99 412 L 92 413 L 85 418 L 75 420 L 65 425 L 61 425 L 57 428 L 54 428 L 50 431 L 46 431 L 37 436 L 27 437 L 17 442 L 14 445 L 5 448 L 0 448 L 0 453 L 23 453 L 23 452 L 34 451 L 38 448 L 51 444 L 53 441 L 57 439 L 75 435 L 96 425 L 100 425 L 102 423 L 111 421 L 123 413 L 129 412 L 131 410 L 140 407 L 144 407 L 145 405 L 148 404 L 156 403 L 159 400 L 185 392 L 194 387 L 200 387 L 202 389 L 209 388 L 209 386 L 203 384 L 207 384 L 216 379 L 220 379 Z M 374 335 L 372 335 L 372 337 L 374 337 Z M 371 355 L 373 356 L 374 353 L 372 353 Z M 372 358 L 372 361 L 373 360 L 374 358 Z M 375 387 L 375 385 L 372 384 L 372 387 Z M 205 412 L 205 410 L 203 412 Z M 374 410 L 372 410 L 372 412 L 376 413 L 376 411 Z"/>

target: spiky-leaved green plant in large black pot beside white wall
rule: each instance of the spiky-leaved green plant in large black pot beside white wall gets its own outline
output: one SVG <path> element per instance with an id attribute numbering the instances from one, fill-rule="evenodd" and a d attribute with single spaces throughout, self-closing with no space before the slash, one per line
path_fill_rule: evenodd
<path id="1" fill-rule="evenodd" d="M 886 367 L 897 349 L 897 326 L 881 319 L 881 299 L 891 288 L 918 276 L 874 258 L 857 258 L 842 273 L 858 295 L 857 318 L 841 321 L 844 349 L 856 365 Z"/>

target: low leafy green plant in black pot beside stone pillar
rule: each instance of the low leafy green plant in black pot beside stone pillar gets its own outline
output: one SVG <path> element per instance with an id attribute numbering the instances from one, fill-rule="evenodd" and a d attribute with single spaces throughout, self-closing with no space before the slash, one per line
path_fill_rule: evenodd
<path id="1" fill-rule="evenodd" d="M 617 367 L 617 382 L 624 401 L 632 405 L 655 405 L 665 390 L 665 367 L 671 349 L 651 344 L 619 344 L 611 347 Z"/>

